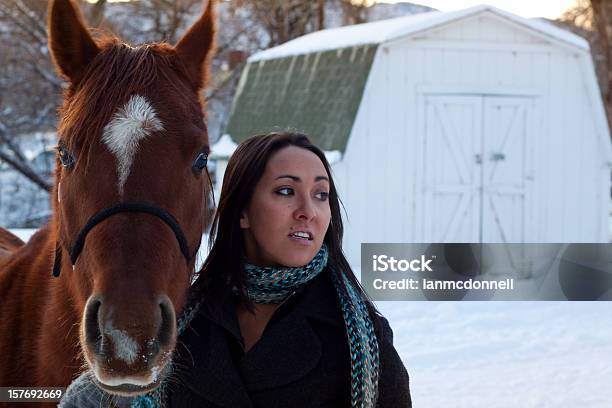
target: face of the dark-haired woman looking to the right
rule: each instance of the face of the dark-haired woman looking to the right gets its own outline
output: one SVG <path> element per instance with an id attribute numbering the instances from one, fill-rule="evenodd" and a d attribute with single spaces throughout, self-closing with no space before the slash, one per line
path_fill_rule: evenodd
<path id="1" fill-rule="evenodd" d="M 317 254 L 329 227 L 329 178 L 311 151 L 288 146 L 274 153 L 240 216 L 246 257 L 258 266 L 303 266 Z"/>

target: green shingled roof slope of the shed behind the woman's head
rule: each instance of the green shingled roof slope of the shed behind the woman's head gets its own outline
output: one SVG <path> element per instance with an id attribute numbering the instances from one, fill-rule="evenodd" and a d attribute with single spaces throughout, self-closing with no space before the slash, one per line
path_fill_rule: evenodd
<path id="1" fill-rule="evenodd" d="M 344 152 L 378 44 L 248 63 L 224 133 L 241 142 L 279 130 Z"/>

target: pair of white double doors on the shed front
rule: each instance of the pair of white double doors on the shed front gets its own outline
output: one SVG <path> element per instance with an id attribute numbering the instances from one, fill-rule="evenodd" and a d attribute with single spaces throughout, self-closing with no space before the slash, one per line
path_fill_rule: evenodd
<path id="1" fill-rule="evenodd" d="M 426 96 L 424 242 L 524 242 L 529 98 Z"/>

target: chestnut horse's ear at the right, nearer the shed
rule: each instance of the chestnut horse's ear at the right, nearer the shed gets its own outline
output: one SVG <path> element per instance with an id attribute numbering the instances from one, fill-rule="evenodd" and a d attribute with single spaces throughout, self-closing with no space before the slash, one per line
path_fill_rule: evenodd
<path id="1" fill-rule="evenodd" d="M 215 0 L 208 0 L 206 9 L 175 46 L 196 89 L 204 86 L 208 76 L 209 56 L 215 42 Z"/>

